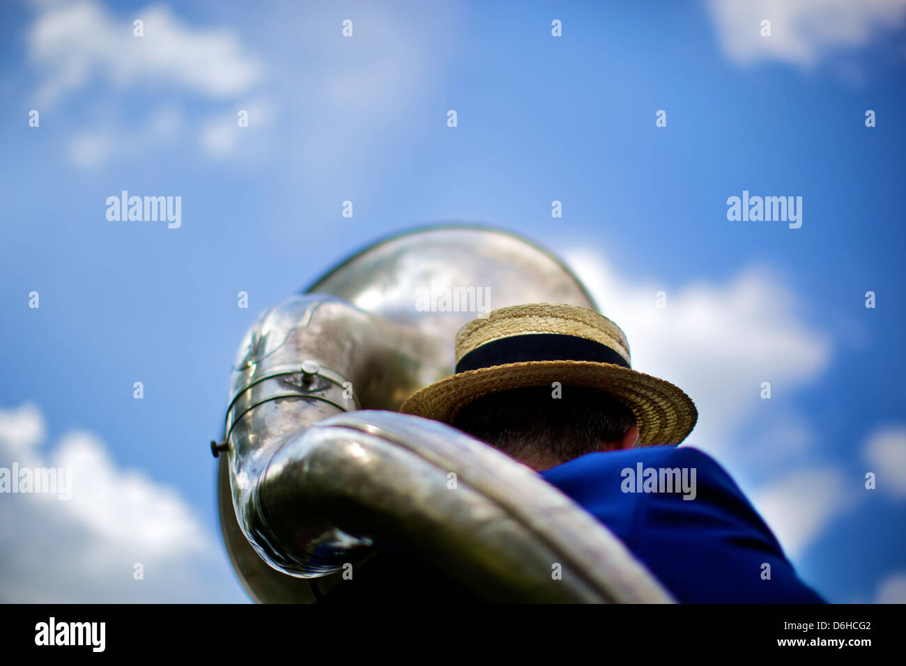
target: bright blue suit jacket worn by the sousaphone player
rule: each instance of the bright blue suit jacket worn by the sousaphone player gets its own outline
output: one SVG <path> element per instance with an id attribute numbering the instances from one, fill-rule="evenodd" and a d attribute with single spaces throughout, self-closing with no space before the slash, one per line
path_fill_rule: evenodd
<path id="1" fill-rule="evenodd" d="M 696 470 L 696 497 L 638 490 L 642 468 Z M 574 458 L 542 476 L 597 517 L 682 603 L 824 603 L 717 462 L 699 449 L 645 447 Z M 630 481 L 632 485 L 630 486 Z M 762 578 L 764 564 L 770 579 Z"/>

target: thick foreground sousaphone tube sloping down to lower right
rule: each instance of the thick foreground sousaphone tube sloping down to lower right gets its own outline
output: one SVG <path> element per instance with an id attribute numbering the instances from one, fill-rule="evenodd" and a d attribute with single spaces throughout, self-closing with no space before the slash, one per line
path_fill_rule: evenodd
<path id="1" fill-rule="evenodd" d="M 306 463 L 295 478 L 304 490 L 294 494 L 301 560 L 333 538 L 323 531 L 330 525 L 405 545 L 491 601 L 670 600 L 573 500 L 531 468 L 442 423 L 357 411 L 315 424 L 284 450 L 293 445 Z"/>

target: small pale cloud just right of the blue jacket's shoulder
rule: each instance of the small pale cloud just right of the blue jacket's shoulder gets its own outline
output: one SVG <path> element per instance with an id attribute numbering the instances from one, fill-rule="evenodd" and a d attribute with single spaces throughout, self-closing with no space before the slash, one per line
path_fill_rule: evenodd
<path id="1" fill-rule="evenodd" d="M 839 469 L 808 469 L 760 488 L 752 503 L 786 555 L 795 558 L 836 516 L 853 507 L 856 498 L 851 487 Z"/>

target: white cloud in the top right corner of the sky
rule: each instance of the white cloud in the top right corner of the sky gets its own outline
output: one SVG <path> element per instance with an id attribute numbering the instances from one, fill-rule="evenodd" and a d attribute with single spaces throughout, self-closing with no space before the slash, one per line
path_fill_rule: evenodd
<path id="1" fill-rule="evenodd" d="M 720 43 L 736 63 L 777 60 L 811 68 L 906 23 L 906 0 L 709 0 Z M 771 22 L 771 36 L 761 22 Z"/>

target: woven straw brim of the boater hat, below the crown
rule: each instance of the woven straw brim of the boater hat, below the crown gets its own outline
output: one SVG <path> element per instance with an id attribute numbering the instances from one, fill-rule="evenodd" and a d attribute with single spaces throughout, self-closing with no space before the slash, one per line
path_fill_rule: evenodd
<path id="1" fill-rule="evenodd" d="M 491 393 L 559 381 L 563 400 L 568 387 L 598 389 L 621 401 L 639 426 L 636 446 L 679 444 L 699 419 L 688 395 L 669 381 L 612 363 L 592 361 L 525 361 L 458 372 L 413 393 L 400 411 L 452 424 L 469 402 Z"/>

